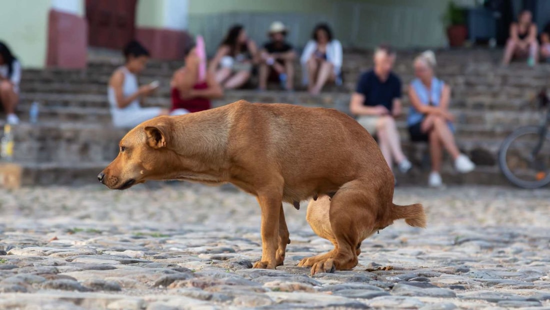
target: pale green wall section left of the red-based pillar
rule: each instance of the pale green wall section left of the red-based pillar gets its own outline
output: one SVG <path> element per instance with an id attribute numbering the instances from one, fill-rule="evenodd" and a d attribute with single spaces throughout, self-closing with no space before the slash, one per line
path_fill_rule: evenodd
<path id="1" fill-rule="evenodd" d="M 50 8 L 51 0 L 2 1 L 0 40 L 26 68 L 45 66 Z"/>

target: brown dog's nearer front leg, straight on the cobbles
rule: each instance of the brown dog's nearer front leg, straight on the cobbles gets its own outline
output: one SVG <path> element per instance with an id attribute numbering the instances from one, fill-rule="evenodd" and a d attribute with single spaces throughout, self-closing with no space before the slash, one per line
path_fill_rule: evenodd
<path id="1" fill-rule="evenodd" d="M 262 259 L 254 264 L 254 268 L 275 269 L 282 195 L 278 193 L 260 194 L 258 202 L 262 210 Z"/>

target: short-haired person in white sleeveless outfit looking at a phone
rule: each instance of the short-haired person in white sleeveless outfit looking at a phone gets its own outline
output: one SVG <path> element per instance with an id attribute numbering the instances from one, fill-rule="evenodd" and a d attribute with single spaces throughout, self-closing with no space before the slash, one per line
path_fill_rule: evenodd
<path id="1" fill-rule="evenodd" d="M 126 63 L 118 68 L 111 79 L 107 89 L 109 105 L 113 125 L 120 128 L 133 128 L 140 123 L 161 115 L 182 115 L 188 111 L 184 109 L 174 110 L 160 107 L 141 107 L 140 99 L 151 94 L 158 84 L 139 86 L 138 77 L 149 60 L 149 52 L 138 41 L 131 41 L 124 47 Z"/>

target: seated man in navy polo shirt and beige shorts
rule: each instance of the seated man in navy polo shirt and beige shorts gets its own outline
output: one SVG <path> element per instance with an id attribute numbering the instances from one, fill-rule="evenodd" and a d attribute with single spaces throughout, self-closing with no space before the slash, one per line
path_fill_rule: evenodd
<path id="1" fill-rule="evenodd" d="M 362 73 L 357 81 L 350 111 L 358 116 L 357 122 L 378 139 L 389 167 L 395 162 L 405 173 L 412 165 L 401 150 L 394 121 L 394 117 L 401 115 L 401 80 L 392 72 L 395 52 L 388 46 L 377 47 L 374 63 L 374 68 Z"/>

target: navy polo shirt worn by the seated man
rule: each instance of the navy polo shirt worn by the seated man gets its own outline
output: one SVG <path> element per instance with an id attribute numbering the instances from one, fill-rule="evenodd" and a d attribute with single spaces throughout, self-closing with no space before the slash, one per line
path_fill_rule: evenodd
<path id="1" fill-rule="evenodd" d="M 381 81 L 374 70 L 368 70 L 361 74 L 355 91 L 365 96 L 364 105 L 383 105 L 391 112 L 393 100 L 401 97 L 401 80 L 392 72 L 387 80 Z"/>

